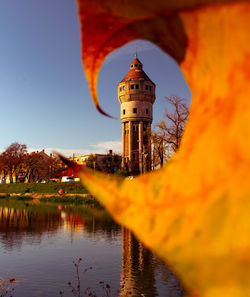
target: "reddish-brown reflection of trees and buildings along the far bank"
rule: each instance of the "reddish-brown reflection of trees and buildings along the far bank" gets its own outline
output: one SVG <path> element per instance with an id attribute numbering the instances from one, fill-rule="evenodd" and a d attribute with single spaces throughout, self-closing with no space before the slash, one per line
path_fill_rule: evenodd
<path id="1" fill-rule="evenodd" d="M 0 242 L 8 250 L 20 248 L 24 240 L 29 244 L 40 244 L 45 234 L 53 236 L 61 229 L 70 233 L 72 239 L 77 233 L 84 232 L 99 232 L 106 238 L 120 233 L 120 226 L 102 209 L 1 201 Z"/>

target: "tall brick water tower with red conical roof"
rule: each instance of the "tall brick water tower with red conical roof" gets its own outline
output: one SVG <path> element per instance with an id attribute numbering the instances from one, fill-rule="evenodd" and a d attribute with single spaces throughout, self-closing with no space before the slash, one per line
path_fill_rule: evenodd
<path id="1" fill-rule="evenodd" d="M 121 104 L 122 168 L 132 175 L 151 170 L 150 132 L 155 101 L 155 84 L 137 58 L 118 84 Z"/>

